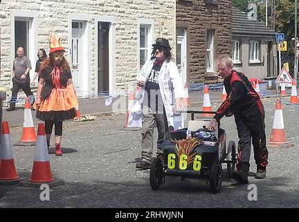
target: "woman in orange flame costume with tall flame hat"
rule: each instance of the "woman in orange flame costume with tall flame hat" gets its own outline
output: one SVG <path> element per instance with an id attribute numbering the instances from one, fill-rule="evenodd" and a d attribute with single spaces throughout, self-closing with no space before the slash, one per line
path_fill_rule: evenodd
<path id="1" fill-rule="evenodd" d="M 48 148 L 55 125 L 55 155 L 62 155 L 60 148 L 62 123 L 75 117 L 78 100 L 73 87 L 71 69 L 64 58 L 60 39 L 57 40 L 55 35 L 51 34 L 49 42 L 50 53 L 41 67 L 35 109 L 36 117 L 45 121 Z"/>

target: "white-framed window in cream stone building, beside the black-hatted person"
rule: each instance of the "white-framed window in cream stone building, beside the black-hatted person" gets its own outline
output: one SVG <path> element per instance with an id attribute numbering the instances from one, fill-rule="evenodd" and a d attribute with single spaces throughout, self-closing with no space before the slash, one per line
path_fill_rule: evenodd
<path id="1" fill-rule="evenodd" d="M 149 40 L 148 40 L 148 35 L 149 35 L 149 26 L 141 26 L 140 27 L 140 38 L 139 38 L 139 44 L 140 44 L 140 47 L 139 47 L 139 51 L 140 51 L 140 54 L 139 54 L 139 65 L 140 67 L 142 67 L 146 60 L 147 60 L 147 57 L 149 55 Z"/>

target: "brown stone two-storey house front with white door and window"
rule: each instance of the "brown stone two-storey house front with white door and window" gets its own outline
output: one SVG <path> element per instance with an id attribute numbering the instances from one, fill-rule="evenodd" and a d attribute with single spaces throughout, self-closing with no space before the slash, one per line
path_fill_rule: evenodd
<path id="1" fill-rule="evenodd" d="M 176 64 L 187 83 L 218 83 L 216 60 L 232 49 L 231 0 L 176 0 Z"/>

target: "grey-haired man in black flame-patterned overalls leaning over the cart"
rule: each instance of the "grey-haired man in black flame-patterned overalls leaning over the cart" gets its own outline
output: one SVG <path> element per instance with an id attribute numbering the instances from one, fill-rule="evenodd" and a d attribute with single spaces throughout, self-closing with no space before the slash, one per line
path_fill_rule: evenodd
<path id="1" fill-rule="evenodd" d="M 268 151 L 264 132 L 264 107 L 260 96 L 255 92 L 248 78 L 233 69 L 233 61 L 230 57 L 221 56 L 217 60 L 217 71 L 221 78 L 224 78 L 224 87 L 228 96 L 210 122 L 209 129 L 215 130 L 217 121 L 224 115 L 234 114 L 239 146 L 237 171 L 234 171 L 232 176 L 239 182 L 248 183 L 252 139 L 257 164 L 255 178 L 264 179 L 268 164 Z"/>

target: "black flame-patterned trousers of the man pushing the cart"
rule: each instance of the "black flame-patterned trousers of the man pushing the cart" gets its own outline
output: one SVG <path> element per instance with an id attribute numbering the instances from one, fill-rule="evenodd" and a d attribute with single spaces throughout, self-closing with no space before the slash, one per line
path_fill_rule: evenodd
<path id="1" fill-rule="evenodd" d="M 251 142 L 253 144 L 253 152 L 255 164 L 258 169 L 265 169 L 268 164 L 268 151 L 266 148 L 266 134 L 264 131 L 264 117 L 260 111 L 256 110 L 248 119 L 242 114 L 235 114 L 235 123 L 237 125 L 237 133 L 239 137 L 237 169 L 248 171 L 251 155 Z"/>

